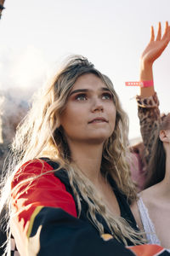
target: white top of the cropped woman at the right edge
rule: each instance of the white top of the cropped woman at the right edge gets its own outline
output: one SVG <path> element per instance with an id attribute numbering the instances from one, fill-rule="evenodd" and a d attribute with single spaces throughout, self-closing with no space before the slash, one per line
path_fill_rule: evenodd
<path id="1" fill-rule="evenodd" d="M 155 226 L 154 226 L 152 220 L 150 219 L 148 209 L 144 206 L 144 202 L 143 202 L 141 196 L 139 196 L 139 201 L 137 201 L 137 204 L 139 207 L 139 214 L 140 214 L 140 218 L 142 220 L 142 224 L 144 227 L 144 231 L 146 233 L 146 238 L 148 240 L 148 243 L 157 244 L 157 245 L 161 246 L 161 241 L 156 236 Z M 170 249 L 167 249 L 167 251 L 170 252 Z"/>

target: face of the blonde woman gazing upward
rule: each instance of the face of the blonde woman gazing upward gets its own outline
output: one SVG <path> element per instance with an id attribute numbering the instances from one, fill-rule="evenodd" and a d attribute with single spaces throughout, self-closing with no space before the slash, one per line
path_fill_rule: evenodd
<path id="1" fill-rule="evenodd" d="M 111 137 L 115 121 L 111 91 L 93 73 L 80 76 L 60 117 L 68 143 L 104 143 Z"/>

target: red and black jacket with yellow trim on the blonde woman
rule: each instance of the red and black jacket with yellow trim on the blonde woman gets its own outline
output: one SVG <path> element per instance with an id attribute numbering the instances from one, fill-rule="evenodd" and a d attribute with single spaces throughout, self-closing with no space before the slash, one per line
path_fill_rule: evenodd
<path id="1" fill-rule="evenodd" d="M 101 238 L 99 231 L 87 216 L 88 206 L 82 197 L 82 212 L 80 218 L 77 218 L 77 200 L 67 172 L 63 169 L 48 172 L 56 168 L 58 164 L 48 159 L 43 160 L 43 165 L 40 160 L 31 160 L 20 168 L 20 175 L 14 177 L 12 199 L 16 214 L 11 222 L 11 230 L 21 256 L 146 255 L 137 254 L 138 251 L 134 254 L 114 238 L 109 241 Z M 37 177 L 42 172 L 48 173 Z M 29 189 L 26 189 L 25 183 L 17 187 L 17 184 L 33 176 L 37 178 L 29 185 Z M 126 197 L 118 192 L 113 181 L 111 185 L 122 217 L 136 228 Z M 25 190 L 26 192 L 23 192 Z M 105 233 L 110 234 L 104 219 L 99 215 L 96 217 L 104 224 Z M 133 251 L 133 248 L 139 249 L 131 247 Z M 144 246 L 140 248 L 141 252 Z M 164 252 L 161 255 L 170 254 Z"/>

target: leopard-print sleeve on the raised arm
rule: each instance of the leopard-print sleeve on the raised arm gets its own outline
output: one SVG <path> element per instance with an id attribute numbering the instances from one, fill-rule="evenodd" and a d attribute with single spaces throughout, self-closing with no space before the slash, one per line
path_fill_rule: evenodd
<path id="1" fill-rule="evenodd" d="M 151 147 L 156 137 L 157 128 L 161 122 L 159 100 L 155 93 L 154 96 L 145 98 L 136 96 L 136 101 L 138 103 L 140 132 L 144 142 L 144 157 L 148 164 Z"/>

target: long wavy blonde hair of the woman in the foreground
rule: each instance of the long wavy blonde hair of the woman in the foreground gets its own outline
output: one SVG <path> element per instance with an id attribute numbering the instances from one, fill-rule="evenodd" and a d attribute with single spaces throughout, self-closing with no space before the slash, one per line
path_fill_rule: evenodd
<path id="1" fill-rule="evenodd" d="M 133 230 L 125 219 L 116 217 L 99 201 L 99 196 L 88 177 L 71 160 L 71 151 L 65 141 L 64 132 L 59 123 L 59 117 L 65 109 L 65 103 L 70 94 L 72 86 L 78 77 L 84 73 L 94 73 L 111 90 L 113 101 L 116 106 L 116 125 L 111 137 L 104 144 L 101 161 L 101 172 L 110 174 L 116 182 L 120 191 L 127 196 L 127 201 L 136 199 L 135 186 L 131 180 L 129 165 L 127 163 L 127 114 L 122 110 L 116 91 L 111 80 L 100 73 L 92 63 L 82 55 L 73 55 L 65 63 L 54 78 L 54 81 L 41 93 L 38 93 L 32 102 L 32 107 L 26 118 L 18 126 L 14 142 L 11 146 L 11 154 L 8 161 L 8 185 L 15 173 L 26 161 L 48 157 L 59 163 L 59 168 L 64 167 L 68 173 L 71 187 L 77 196 L 79 216 L 81 212 L 80 197 L 77 189 L 81 192 L 83 199 L 88 203 L 88 216 L 99 230 L 100 235 L 104 233 L 104 227 L 96 218 L 95 212 L 99 212 L 108 224 L 111 234 L 127 245 L 127 240 L 133 244 L 142 242 L 141 234 Z M 52 171 L 56 172 L 56 170 Z M 44 173 L 42 173 L 43 175 Z M 20 175 L 18 173 L 17 175 Z M 32 177 L 32 180 L 35 177 Z M 31 179 L 25 181 L 31 184 Z M 19 184 L 20 185 L 20 184 Z M 8 191 L 8 195 L 11 191 Z M 8 201 L 10 205 L 10 201 Z"/>

